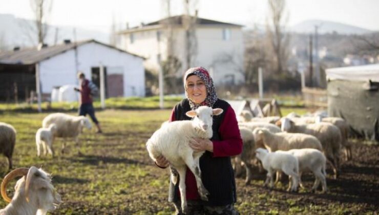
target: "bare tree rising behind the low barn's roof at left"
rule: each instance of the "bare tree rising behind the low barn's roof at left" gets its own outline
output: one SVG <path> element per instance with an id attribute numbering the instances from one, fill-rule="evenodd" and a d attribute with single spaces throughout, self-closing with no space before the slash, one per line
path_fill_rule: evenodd
<path id="1" fill-rule="evenodd" d="M 30 6 L 35 17 L 35 30 L 38 44 L 44 44 L 48 32 L 47 20 L 51 12 L 51 0 L 30 0 Z"/>

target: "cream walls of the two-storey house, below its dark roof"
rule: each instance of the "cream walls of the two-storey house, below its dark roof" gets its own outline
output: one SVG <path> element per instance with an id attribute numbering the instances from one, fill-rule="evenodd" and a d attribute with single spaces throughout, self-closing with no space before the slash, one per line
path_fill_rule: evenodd
<path id="1" fill-rule="evenodd" d="M 229 40 L 223 40 L 223 29 L 229 29 Z M 161 40 L 157 41 L 156 32 L 161 31 Z M 145 67 L 158 70 L 157 55 L 161 54 L 164 60 L 167 56 L 167 33 L 162 29 L 133 32 L 134 42 L 130 43 L 130 33 L 122 35 L 124 43 L 122 49 L 146 57 Z M 185 31 L 183 28 L 174 29 L 174 54 L 182 62 L 182 68 L 178 75 L 182 75 L 188 68 L 186 65 Z M 241 70 L 243 70 L 243 37 L 240 27 L 214 25 L 211 27 L 199 26 L 196 29 L 197 56 L 194 65 L 202 66 L 211 71 L 215 84 L 222 84 L 233 76 L 234 83 L 244 82 Z M 162 39 L 162 37 L 164 39 Z M 227 60 L 225 60 L 227 59 Z M 229 76 L 229 78 L 225 78 Z"/>

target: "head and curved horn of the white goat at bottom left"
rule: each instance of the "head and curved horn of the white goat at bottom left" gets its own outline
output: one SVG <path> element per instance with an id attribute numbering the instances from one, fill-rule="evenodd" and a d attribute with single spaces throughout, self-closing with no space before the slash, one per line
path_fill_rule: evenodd
<path id="1" fill-rule="evenodd" d="M 2 185 L 1 193 L 5 201 L 12 200 L 7 196 L 6 186 L 8 182 L 15 177 L 20 178 L 15 186 L 18 198 L 25 198 L 27 202 L 34 204 L 36 208 L 41 210 L 53 210 L 59 205 L 60 195 L 51 184 L 51 176 L 42 169 L 34 166 L 30 168 L 17 168 L 5 176 Z"/>

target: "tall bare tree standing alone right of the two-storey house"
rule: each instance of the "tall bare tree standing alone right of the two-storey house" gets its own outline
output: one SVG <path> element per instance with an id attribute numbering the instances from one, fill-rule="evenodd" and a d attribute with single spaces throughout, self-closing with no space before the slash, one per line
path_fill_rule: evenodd
<path id="1" fill-rule="evenodd" d="M 267 35 L 275 56 L 275 72 L 281 74 L 287 63 L 289 35 L 285 33 L 285 0 L 268 0 L 270 17 L 267 21 Z"/>

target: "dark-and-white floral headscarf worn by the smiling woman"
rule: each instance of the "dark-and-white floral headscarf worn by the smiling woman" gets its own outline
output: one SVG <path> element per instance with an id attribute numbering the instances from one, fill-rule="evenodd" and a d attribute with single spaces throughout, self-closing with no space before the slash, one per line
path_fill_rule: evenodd
<path id="1" fill-rule="evenodd" d="M 185 91 L 185 97 L 189 101 L 189 106 L 191 106 L 191 110 L 198 109 L 199 106 L 209 106 L 212 107 L 213 104 L 217 101 L 217 94 L 215 90 L 215 85 L 213 84 L 213 79 L 210 77 L 208 71 L 203 67 L 193 67 L 188 69 L 184 74 L 184 89 L 185 89 L 185 80 L 187 80 L 189 75 L 197 75 L 202 81 L 204 81 L 206 86 L 206 98 L 200 104 L 196 104 L 191 99 L 188 98 L 187 91 Z"/>

